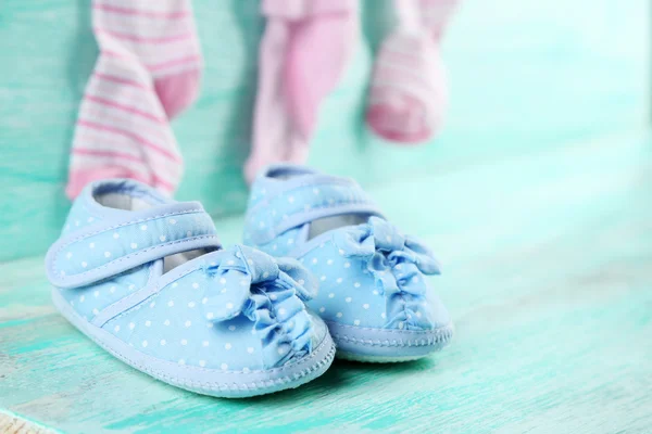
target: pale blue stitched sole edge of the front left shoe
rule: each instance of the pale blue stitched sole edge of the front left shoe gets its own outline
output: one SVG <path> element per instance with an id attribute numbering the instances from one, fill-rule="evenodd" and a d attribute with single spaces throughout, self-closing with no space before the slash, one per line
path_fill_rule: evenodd
<path id="1" fill-rule="evenodd" d="M 65 319 L 115 358 L 164 383 L 202 395 L 246 398 L 299 387 L 326 372 L 335 358 L 335 343 L 326 333 L 310 355 L 278 368 L 244 372 L 179 366 L 140 353 L 89 323 L 70 307 L 57 289 L 52 289 L 52 302 Z"/>

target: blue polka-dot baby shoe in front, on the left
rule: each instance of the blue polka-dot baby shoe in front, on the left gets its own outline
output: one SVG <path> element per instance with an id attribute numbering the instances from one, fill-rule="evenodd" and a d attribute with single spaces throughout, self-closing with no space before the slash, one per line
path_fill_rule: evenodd
<path id="1" fill-rule="evenodd" d="M 221 397 L 297 387 L 335 345 L 306 310 L 316 282 L 298 261 L 223 250 L 197 202 L 129 180 L 88 186 L 50 247 L 58 309 L 125 363 Z"/>

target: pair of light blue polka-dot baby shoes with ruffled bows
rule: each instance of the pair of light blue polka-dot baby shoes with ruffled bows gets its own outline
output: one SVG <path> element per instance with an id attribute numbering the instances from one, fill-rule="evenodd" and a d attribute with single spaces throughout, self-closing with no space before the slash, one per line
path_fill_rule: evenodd
<path id="1" fill-rule="evenodd" d="M 198 202 L 131 180 L 95 182 L 48 252 L 53 302 L 124 362 L 221 397 L 306 383 L 336 345 L 343 358 L 401 361 L 452 336 L 424 279 L 437 261 L 351 179 L 267 168 L 243 238 L 223 248 Z"/>

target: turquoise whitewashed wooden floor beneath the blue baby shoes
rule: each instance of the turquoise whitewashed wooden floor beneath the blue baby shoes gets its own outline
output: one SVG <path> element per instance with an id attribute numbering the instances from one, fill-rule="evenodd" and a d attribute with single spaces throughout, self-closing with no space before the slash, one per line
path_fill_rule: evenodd
<path id="1" fill-rule="evenodd" d="M 1 266 L 0 409 L 66 433 L 652 432 L 650 135 L 474 162 L 373 194 L 443 260 L 435 283 L 456 323 L 444 352 L 336 361 L 255 399 L 203 397 L 83 337 L 50 304 L 35 257 Z M 240 225 L 218 221 L 225 241 Z"/>

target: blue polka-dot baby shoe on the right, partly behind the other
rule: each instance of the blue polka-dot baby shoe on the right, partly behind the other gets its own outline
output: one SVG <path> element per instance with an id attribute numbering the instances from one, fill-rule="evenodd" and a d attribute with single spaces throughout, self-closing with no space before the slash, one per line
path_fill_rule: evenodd
<path id="1" fill-rule="evenodd" d="M 430 251 L 389 224 L 352 179 L 271 166 L 252 186 L 244 243 L 298 258 L 319 281 L 308 305 L 326 321 L 338 357 L 402 361 L 442 348 L 451 318 L 426 275 Z"/>

